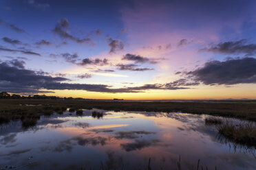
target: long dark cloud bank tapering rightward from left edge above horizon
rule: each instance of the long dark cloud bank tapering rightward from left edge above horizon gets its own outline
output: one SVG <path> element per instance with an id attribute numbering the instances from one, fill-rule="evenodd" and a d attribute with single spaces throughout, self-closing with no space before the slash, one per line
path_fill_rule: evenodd
<path id="1" fill-rule="evenodd" d="M 70 84 L 65 77 L 52 77 L 42 71 L 21 69 L 8 62 L 0 63 L 0 91 L 9 93 L 47 93 L 46 90 L 87 90 L 101 93 L 140 93 L 145 90 L 186 89 L 191 83 L 179 80 L 169 84 L 145 84 L 143 86 L 111 88 L 104 84 Z M 50 92 L 53 93 L 53 92 Z"/>

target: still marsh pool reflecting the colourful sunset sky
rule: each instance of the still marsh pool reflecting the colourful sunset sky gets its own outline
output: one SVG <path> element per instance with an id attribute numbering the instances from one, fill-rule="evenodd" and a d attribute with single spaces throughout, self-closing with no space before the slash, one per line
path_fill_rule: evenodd
<path id="1" fill-rule="evenodd" d="M 96 109 L 94 109 L 96 110 Z M 256 169 L 253 149 L 234 149 L 206 126 L 206 115 L 104 112 L 93 118 L 65 112 L 41 117 L 24 130 L 19 121 L 0 130 L 0 169 Z M 235 120 L 237 121 L 237 120 Z"/>

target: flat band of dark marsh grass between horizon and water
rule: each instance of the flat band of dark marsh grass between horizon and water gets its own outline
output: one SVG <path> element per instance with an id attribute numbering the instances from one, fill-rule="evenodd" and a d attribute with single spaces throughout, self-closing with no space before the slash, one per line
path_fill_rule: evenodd
<path id="1" fill-rule="evenodd" d="M 244 101 L 219 102 L 142 102 L 142 101 L 97 101 L 57 99 L 0 99 L 0 124 L 21 119 L 26 115 L 59 114 L 70 108 L 70 112 L 98 108 L 115 111 L 186 112 L 233 117 L 256 121 L 256 103 Z M 100 114 L 99 114 L 100 115 Z M 97 114 L 96 114 L 96 117 Z M 99 116 L 101 117 L 101 116 Z"/>

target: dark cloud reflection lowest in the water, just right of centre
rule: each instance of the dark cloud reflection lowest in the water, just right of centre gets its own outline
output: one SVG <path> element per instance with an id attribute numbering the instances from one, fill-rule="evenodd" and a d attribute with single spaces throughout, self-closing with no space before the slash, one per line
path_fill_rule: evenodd
<path id="1" fill-rule="evenodd" d="M 145 147 L 150 147 L 151 145 L 156 145 L 159 143 L 158 140 L 152 140 L 152 141 L 146 141 L 146 140 L 135 140 L 134 143 L 123 143 L 120 144 L 122 149 L 125 151 L 135 151 L 135 150 L 140 150 Z"/>

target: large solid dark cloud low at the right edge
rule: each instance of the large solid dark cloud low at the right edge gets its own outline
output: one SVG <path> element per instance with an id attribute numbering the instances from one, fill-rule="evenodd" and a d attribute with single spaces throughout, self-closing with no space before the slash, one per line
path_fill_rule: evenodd
<path id="1" fill-rule="evenodd" d="M 256 83 L 256 59 L 238 58 L 224 62 L 214 60 L 186 74 L 207 85 Z"/>

